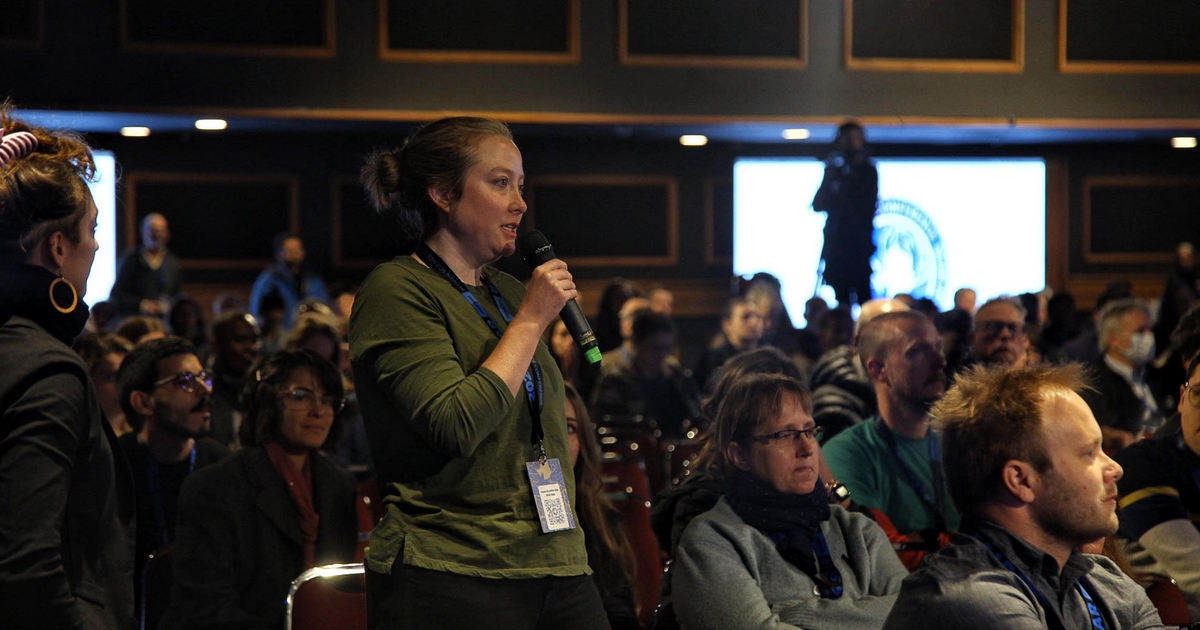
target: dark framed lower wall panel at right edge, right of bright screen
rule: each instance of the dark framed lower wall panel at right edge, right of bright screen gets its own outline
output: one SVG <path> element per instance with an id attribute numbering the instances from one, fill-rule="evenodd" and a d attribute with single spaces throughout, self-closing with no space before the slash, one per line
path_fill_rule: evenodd
<path id="1" fill-rule="evenodd" d="M 1084 260 L 1165 263 L 1200 234 L 1200 178 L 1117 175 L 1084 180 Z"/>

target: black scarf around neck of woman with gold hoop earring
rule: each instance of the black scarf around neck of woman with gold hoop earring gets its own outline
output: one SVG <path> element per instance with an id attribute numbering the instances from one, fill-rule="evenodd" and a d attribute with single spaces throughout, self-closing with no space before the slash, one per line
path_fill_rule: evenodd
<path id="1" fill-rule="evenodd" d="M 88 324 L 88 305 L 78 298 L 72 300 L 70 286 L 56 280 L 59 276 L 42 266 L 0 264 L 0 287 L 4 287 L 0 290 L 0 324 L 12 316 L 32 319 L 54 338 L 71 346 Z M 50 301 L 52 287 L 54 302 Z M 76 304 L 70 312 L 62 313 L 54 307 L 54 304 L 66 307 L 72 301 Z"/>

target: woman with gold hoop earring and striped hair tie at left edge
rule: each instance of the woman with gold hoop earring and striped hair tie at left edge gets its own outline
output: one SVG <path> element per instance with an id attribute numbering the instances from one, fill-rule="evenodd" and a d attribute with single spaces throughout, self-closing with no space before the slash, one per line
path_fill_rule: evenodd
<path id="1" fill-rule="evenodd" d="M 71 343 L 98 245 L 91 150 L 0 106 L 0 625 L 128 628 L 128 466 Z"/>

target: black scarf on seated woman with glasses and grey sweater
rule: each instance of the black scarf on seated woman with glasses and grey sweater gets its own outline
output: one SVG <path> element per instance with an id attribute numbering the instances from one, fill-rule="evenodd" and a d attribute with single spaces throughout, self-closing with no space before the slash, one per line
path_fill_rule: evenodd
<path id="1" fill-rule="evenodd" d="M 745 523 L 775 542 L 785 560 L 821 584 L 812 535 L 829 520 L 829 494 L 817 479 L 808 494 L 785 494 L 754 475 L 738 472 L 725 498 Z"/>

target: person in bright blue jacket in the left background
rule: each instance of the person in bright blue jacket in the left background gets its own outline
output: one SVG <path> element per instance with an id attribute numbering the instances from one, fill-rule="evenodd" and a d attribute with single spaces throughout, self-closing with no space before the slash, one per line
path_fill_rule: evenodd
<path id="1" fill-rule="evenodd" d="M 254 286 L 250 289 L 250 313 L 263 322 L 265 328 L 268 296 L 277 296 L 277 304 L 281 304 L 283 308 L 281 329 L 286 331 L 295 322 L 296 307 L 302 300 L 314 298 L 329 301 L 329 292 L 325 290 L 325 283 L 320 276 L 305 271 L 304 240 L 300 236 L 295 234 L 276 235 L 275 240 L 271 241 L 271 252 L 275 254 L 275 264 L 264 269 L 254 278 Z M 271 302 L 276 301 L 271 300 Z"/>

